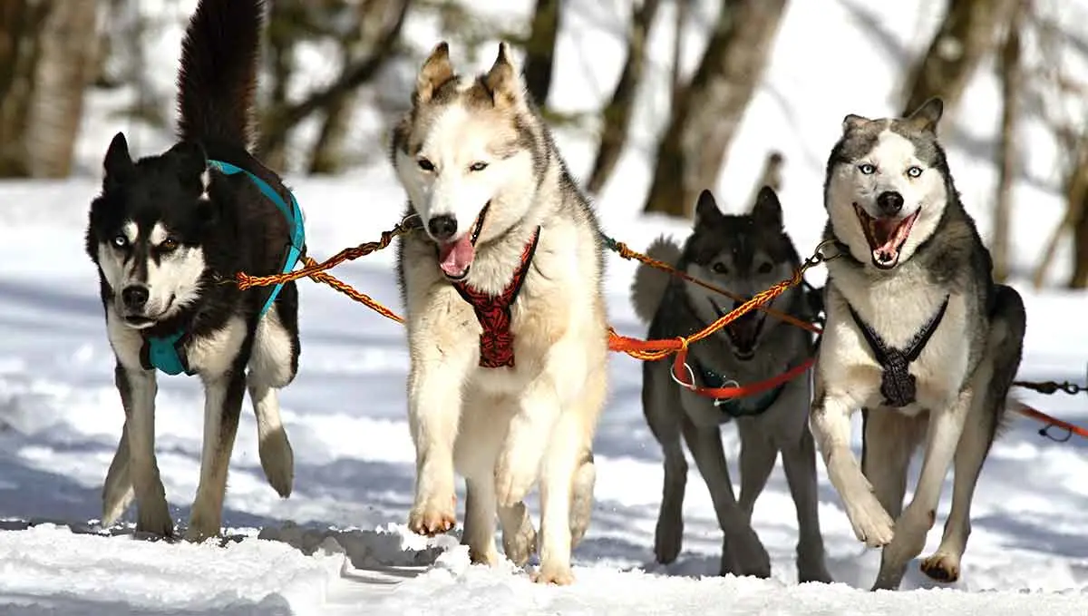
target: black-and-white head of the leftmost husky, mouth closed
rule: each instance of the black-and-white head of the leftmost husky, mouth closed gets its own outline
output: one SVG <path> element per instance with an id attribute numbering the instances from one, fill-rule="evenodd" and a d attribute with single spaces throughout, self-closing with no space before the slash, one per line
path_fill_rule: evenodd
<path id="1" fill-rule="evenodd" d="M 149 328 L 193 304 L 207 276 L 200 234 L 215 217 L 203 152 L 181 144 L 134 162 L 119 135 L 104 169 L 88 243 L 122 321 Z"/>

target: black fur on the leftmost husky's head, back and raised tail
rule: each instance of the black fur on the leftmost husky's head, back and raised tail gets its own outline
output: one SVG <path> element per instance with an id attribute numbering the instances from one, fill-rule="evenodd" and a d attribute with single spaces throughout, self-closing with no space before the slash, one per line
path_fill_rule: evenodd
<path id="1" fill-rule="evenodd" d="M 103 160 L 102 190 L 91 201 L 86 233 L 86 251 L 96 264 L 99 245 L 110 242 L 127 221 L 141 232 L 135 252 L 150 250 L 147 234 L 161 224 L 181 245 L 199 247 L 203 254 L 199 298 L 143 330 L 147 336 L 178 330 L 189 337 L 207 336 L 242 316 L 248 329 L 244 347 L 250 348 L 257 315 L 271 287 L 243 293 L 225 281 L 239 271 L 279 273 L 286 257 L 290 227 L 276 206 L 246 176 L 207 168 L 207 158 L 236 164 L 289 201 L 279 175 L 247 151 L 263 10 L 263 0 L 201 0 L 183 41 L 177 78 L 183 140 L 161 155 L 133 161 L 119 134 Z M 210 175 L 208 198 L 201 197 L 203 173 Z M 99 276 L 107 306 L 120 289 L 109 287 L 101 270 Z M 275 307 L 292 338 L 294 368 L 299 353 L 294 282 L 283 286 Z"/>

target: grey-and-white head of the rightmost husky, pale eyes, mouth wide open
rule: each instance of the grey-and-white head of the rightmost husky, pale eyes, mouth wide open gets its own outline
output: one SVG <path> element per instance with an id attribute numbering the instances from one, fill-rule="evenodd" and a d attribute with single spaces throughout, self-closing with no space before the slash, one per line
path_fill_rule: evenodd
<path id="1" fill-rule="evenodd" d="M 936 132 L 942 109 L 934 100 L 904 120 L 843 120 L 826 198 L 836 235 L 856 259 L 890 270 L 936 229 L 948 198 Z"/>

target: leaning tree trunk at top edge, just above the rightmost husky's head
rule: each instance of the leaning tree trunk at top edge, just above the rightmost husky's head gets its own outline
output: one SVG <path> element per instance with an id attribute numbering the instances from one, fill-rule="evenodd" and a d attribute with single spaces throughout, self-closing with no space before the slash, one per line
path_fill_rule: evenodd
<path id="1" fill-rule="evenodd" d="M 935 96 L 943 99 L 945 109 L 955 107 L 982 58 L 993 50 L 1010 9 L 1022 1 L 948 0 L 929 48 L 907 74 L 902 115 Z"/>

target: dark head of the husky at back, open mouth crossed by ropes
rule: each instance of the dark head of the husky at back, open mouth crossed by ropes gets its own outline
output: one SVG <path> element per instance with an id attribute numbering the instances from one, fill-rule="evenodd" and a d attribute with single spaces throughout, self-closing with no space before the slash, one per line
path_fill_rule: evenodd
<path id="1" fill-rule="evenodd" d="M 752 297 L 793 274 L 798 257 L 782 230 L 782 207 L 770 188 L 763 188 L 752 213 L 726 215 L 709 190 L 703 190 L 695 206 L 695 229 L 689 246 L 685 271 L 700 279 Z M 696 316 L 710 323 L 739 307 L 718 293 L 688 283 L 685 291 Z M 771 304 L 788 305 L 790 293 Z M 765 331 L 778 323 L 763 310 L 752 310 L 726 327 L 733 355 L 741 360 L 755 357 Z"/>

